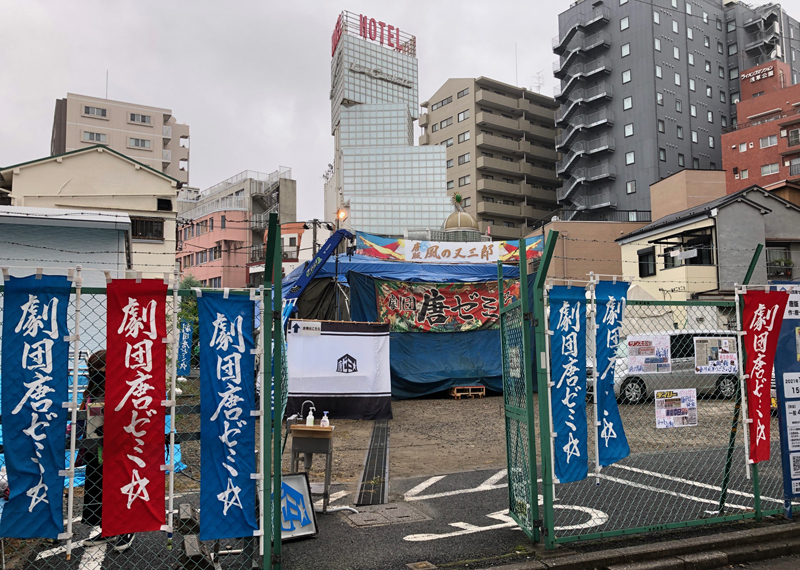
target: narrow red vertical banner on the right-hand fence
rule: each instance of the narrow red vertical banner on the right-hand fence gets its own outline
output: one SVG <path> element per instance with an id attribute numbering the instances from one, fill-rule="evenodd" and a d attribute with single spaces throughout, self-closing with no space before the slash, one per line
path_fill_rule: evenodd
<path id="1" fill-rule="evenodd" d="M 746 291 L 742 339 L 747 352 L 747 415 L 750 420 L 750 460 L 769 459 L 770 384 L 772 361 L 778 346 L 783 311 L 789 294 L 783 291 Z"/>

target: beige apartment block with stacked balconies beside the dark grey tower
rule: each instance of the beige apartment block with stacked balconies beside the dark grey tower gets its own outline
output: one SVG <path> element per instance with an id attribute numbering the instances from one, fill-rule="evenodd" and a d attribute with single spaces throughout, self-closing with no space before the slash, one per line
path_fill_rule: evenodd
<path id="1" fill-rule="evenodd" d="M 448 79 L 422 107 L 419 144 L 446 147 L 447 193 L 481 233 L 518 239 L 557 209 L 555 100 L 478 77 Z"/>

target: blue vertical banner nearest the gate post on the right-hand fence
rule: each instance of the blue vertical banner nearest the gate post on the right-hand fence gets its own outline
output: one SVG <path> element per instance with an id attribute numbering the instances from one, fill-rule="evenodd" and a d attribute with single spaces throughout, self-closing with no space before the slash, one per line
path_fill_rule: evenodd
<path id="1" fill-rule="evenodd" d="M 550 400 L 553 409 L 555 475 L 559 483 L 588 473 L 586 423 L 586 290 L 550 290 Z"/>

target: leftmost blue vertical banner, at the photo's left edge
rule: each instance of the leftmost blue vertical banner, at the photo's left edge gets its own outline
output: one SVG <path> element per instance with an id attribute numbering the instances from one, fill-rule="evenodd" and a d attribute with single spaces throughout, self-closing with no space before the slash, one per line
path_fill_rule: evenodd
<path id="1" fill-rule="evenodd" d="M 5 284 L 0 412 L 11 495 L 0 536 L 64 532 L 59 471 L 67 436 L 69 293 L 63 276 L 12 277 Z"/>

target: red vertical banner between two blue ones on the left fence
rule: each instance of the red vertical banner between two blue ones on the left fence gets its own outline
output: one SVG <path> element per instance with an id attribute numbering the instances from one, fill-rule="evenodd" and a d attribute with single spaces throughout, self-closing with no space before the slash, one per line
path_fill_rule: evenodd
<path id="1" fill-rule="evenodd" d="M 164 511 L 167 285 L 108 285 L 103 536 L 161 530 Z"/>

